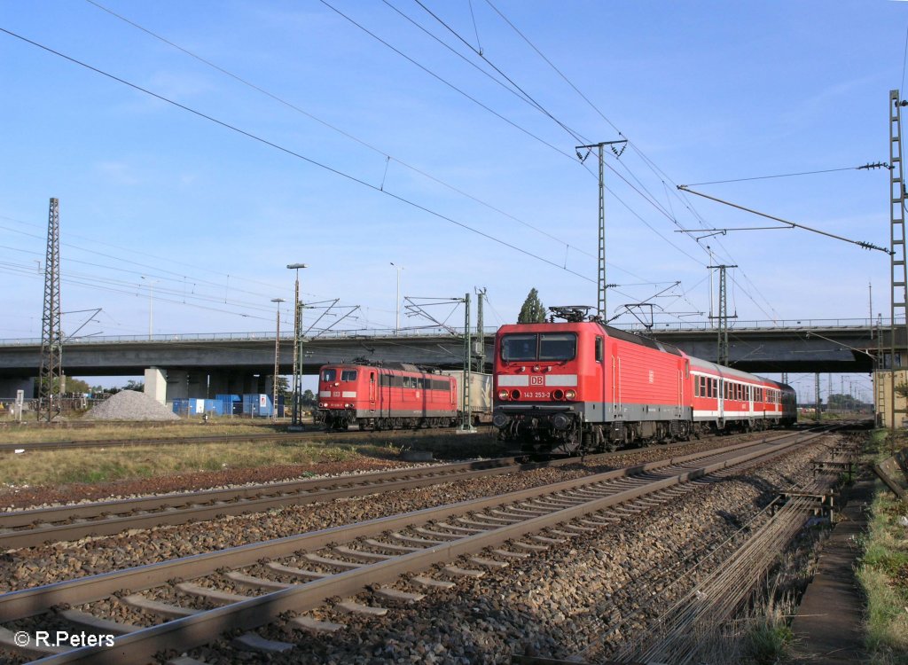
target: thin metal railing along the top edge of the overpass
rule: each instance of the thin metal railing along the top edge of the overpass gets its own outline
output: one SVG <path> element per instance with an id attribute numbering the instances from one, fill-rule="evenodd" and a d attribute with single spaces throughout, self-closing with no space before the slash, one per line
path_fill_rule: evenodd
<path id="1" fill-rule="evenodd" d="M 903 323 L 903 322 L 899 322 Z M 642 323 L 615 323 L 614 327 L 633 332 L 646 332 Z M 872 319 L 777 319 L 765 321 L 729 322 L 729 330 L 796 330 L 804 328 L 870 328 L 879 325 L 883 329 L 889 328 L 889 320 Z M 455 332 L 451 332 L 454 330 Z M 485 328 L 486 335 L 493 335 L 498 326 Z M 672 322 L 655 323 L 650 328 L 652 332 L 690 332 L 690 331 L 715 331 L 716 323 L 703 322 Z M 313 342 L 318 339 L 355 339 L 370 337 L 425 337 L 425 336 L 459 336 L 462 328 L 442 328 L 439 326 L 425 328 L 358 328 L 350 330 L 331 330 L 325 332 L 309 332 L 304 337 L 304 342 Z M 273 340 L 274 332 L 176 332 L 160 333 L 153 335 L 93 335 L 65 340 L 67 344 L 93 344 L 93 343 L 142 343 L 142 342 L 222 342 L 222 341 L 255 341 Z M 281 331 L 281 341 L 292 342 L 293 333 Z M 35 346 L 40 345 L 40 338 L 7 339 L 0 340 L 0 346 Z"/>

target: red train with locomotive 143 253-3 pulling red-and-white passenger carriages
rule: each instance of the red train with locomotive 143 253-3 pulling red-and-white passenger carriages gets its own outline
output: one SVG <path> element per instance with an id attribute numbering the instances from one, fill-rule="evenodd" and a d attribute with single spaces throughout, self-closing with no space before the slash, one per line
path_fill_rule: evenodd
<path id="1" fill-rule="evenodd" d="M 566 323 L 498 329 L 492 422 L 500 438 L 525 450 L 588 452 L 797 419 L 795 391 L 784 383 L 585 321 L 583 310 L 558 308 Z"/>

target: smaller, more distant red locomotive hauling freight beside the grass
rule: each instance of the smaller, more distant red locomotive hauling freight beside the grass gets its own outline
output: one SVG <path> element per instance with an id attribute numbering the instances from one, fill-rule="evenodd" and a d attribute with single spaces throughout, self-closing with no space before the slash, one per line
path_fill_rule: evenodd
<path id="1" fill-rule="evenodd" d="M 471 376 L 471 386 L 488 378 Z M 319 372 L 316 417 L 335 430 L 449 427 L 459 422 L 460 396 L 455 376 L 420 372 L 416 365 L 331 364 Z M 481 400 L 480 394 L 471 397 L 474 404 Z"/>

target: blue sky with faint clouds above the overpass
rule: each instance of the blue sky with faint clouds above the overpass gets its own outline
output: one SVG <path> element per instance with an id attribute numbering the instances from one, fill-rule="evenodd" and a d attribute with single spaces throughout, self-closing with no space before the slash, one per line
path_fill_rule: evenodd
<path id="1" fill-rule="evenodd" d="M 711 261 L 739 266 L 741 322 L 866 319 L 868 284 L 888 315 L 886 254 L 800 230 L 697 243 L 676 231 L 770 223 L 675 185 L 888 161 L 908 4 L 423 1 L 0 2 L 5 30 L 261 139 L 0 33 L 0 338 L 40 336 L 51 196 L 63 310 L 103 308 L 81 333 L 147 334 L 149 282 L 154 333 L 270 331 L 294 262 L 303 300 L 360 306 L 341 327 L 393 327 L 390 262 L 402 295 L 486 287 L 491 325 L 531 287 L 595 305 L 596 161 L 574 147 L 622 135 L 610 316 L 677 281 L 657 321 L 702 321 Z M 884 170 L 695 189 L 889 244 Z"/>

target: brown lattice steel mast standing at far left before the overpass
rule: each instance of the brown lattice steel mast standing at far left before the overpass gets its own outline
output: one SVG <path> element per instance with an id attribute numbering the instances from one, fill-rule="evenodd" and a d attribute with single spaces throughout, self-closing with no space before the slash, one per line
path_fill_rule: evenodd
<path id="1" fill-rule="evenodd" d="M 41 318 L 41 372 L 38 420 L 59 415 L 63 397 L 63 332 L 60 328 L 60 201 L 51 199 L 44 259 L 44 314 Z"/>

